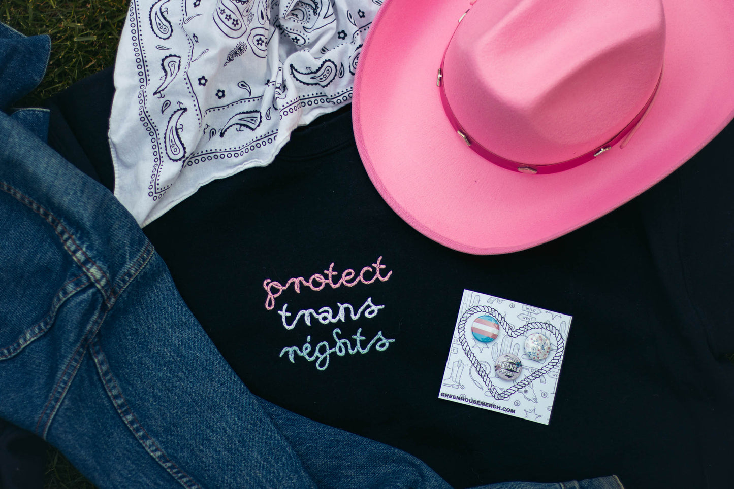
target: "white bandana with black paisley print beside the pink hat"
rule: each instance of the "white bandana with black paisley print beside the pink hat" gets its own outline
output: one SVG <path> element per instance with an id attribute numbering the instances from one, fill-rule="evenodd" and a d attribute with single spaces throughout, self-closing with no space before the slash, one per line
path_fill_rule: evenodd
<path id="1" fill-rule="evenodd" d="M 352 101 L 382 0 L 131 0 L 109 141 L 141 226 Z"/>

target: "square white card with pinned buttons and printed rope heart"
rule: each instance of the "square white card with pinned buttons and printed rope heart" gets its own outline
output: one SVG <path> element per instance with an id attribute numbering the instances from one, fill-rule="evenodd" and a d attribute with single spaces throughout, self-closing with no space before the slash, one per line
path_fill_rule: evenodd
<path id="1" fill-rule="evenodd" d="M 571 319 L 464 290 L 438 397 L 548 424 Z"/>

